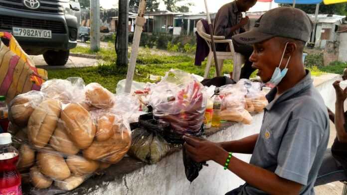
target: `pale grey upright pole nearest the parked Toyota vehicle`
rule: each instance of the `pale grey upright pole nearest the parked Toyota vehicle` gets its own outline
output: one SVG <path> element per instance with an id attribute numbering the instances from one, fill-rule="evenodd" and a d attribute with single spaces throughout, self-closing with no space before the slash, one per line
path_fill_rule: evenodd
<path id="1" fill-rule="evenodd" d="M 100 49 L 100 2 L 90 0 L 90 49 Z"/>

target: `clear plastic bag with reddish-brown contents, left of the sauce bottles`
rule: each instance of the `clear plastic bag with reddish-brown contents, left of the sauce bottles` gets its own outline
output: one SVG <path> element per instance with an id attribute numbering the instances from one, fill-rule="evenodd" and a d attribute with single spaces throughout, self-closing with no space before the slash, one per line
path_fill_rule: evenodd
<path id="1" fill-rule="evenodd" d="M 156 119 L 171 123 L 176 133 L 200 133 L 206 108 L 203 86 L 191 75 L 171 70 L 151 89 Z"/>

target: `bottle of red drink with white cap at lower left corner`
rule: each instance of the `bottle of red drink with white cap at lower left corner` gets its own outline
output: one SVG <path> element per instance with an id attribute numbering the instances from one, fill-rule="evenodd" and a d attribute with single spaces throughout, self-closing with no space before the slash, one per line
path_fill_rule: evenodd
<path id="1" fill-rule="evenodd" d="M 0 134 L 0 195 L 22 195 L 21 177 L 16 168 L 19 153 L 11 143 L 11 134 Z"/>

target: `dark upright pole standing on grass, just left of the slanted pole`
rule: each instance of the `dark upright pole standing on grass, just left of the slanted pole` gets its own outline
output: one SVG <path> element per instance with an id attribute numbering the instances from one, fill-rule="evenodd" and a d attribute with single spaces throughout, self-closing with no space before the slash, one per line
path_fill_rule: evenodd
<path id="1" fill-rule="evenodd" d="M 129 0 L 119 0 L 119 15 L 117 26 L 117 66 L 128 66 L 128 35 L 129 35 Z"/>

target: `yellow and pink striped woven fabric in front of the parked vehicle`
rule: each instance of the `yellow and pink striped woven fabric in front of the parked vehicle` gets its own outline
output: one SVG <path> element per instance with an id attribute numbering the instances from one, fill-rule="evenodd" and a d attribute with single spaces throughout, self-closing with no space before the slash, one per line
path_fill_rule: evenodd
<path id="1" fill-rule="evenodd" d="M 15 96 L 31 90 L 40 90 L 48 79 L 47 71 L 35 68 L 34 62 L 8 32 L 0 32 L 8 39 L 8 47 L 0 41 L 0 96 L 9 103 Z"/>

